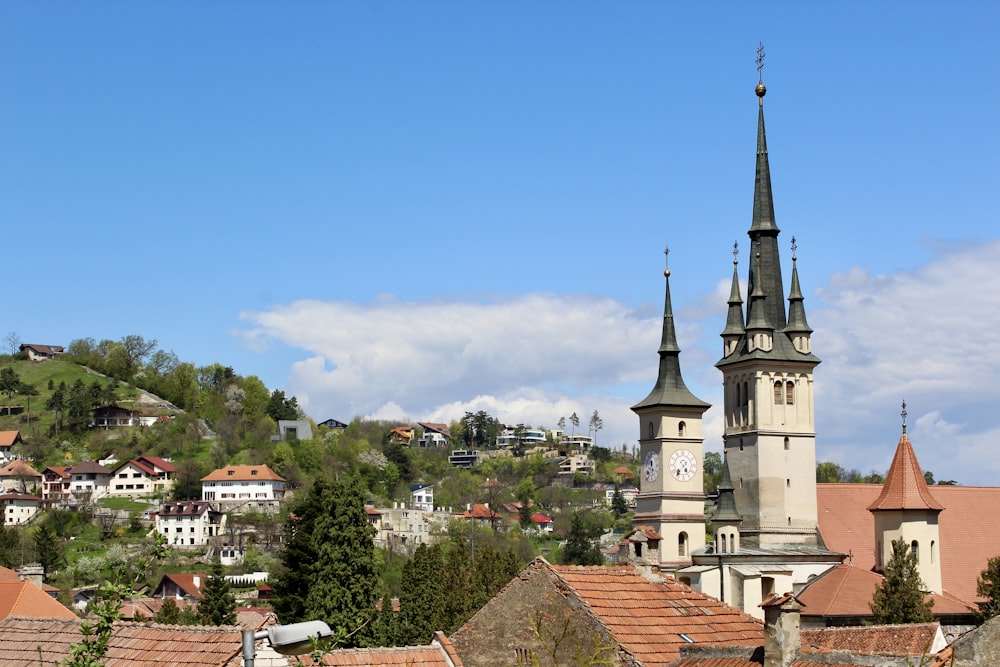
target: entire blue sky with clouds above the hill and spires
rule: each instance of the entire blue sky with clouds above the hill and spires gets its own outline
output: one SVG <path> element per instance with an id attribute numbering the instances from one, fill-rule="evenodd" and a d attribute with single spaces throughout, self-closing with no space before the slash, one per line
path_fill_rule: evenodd
<path id="1" fill-rule="evenodd" d="M 137 333 L 316 419 L 720 403 L 757 83 L 818 456 L 1000 483 L 991 3 L 5 3 L 0 331 Z M 785 262 L 790 274 L 790 251 Z M 719 411 L 706 449 L 721 449 Z"/>

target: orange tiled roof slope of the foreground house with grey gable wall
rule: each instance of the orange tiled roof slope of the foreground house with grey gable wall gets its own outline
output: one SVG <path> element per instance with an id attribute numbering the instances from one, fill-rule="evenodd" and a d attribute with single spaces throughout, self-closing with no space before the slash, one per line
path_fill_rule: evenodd
<path id="1" fill-rule="evenodd" d="M 631 566 L 550 567 L 643 664 L 665 664 L 690 642 L 763 643 L 760 621 L 672 577 L 654 583 Z"/>

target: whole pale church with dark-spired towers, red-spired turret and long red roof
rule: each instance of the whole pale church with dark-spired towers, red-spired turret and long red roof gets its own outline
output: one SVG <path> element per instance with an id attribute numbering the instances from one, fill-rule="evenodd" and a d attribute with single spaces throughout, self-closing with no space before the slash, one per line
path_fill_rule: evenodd
<path id="1" fill-rule="evenodd" d="M 640 492 L 623 556 L 758 618 L 764 615 L 761 602 L 772 594 L 801 592 L 815 611 L 832 602 L 824 595 L 848 597 L 847 589 L 829 581 L 863 581 L 853 591 L 857 603 L 844 614 L 858 620 L 868 613 L 892 542 L 903 539 L 941 618 L 965 617 L 976 599 L 977 575 L 1000 555 L 1000 531 L 977 531 L 958 514 L 970 504 L 1000 510 L 1000 489 L 932 491 L 906 435 L 905 404 L 903 435 L 884 484 L 816 483 L 813 371 L 820 359 L 812 351 L 794 237 L 784 293 L 764 130 L 766 92 L 759 82 L 746 300 L 734 246 L 722 358 L 716 363 L 723 384 L 724 464 L 711 534 L 706 536 L 701 470 L 702 416 L 710 406 L 681 375 L 668 268 L 656 384 L 632 407 L 639 418 Z M 852 574 L 859 567 L 864 576 Z M 810 592 L 821 579 L 829 581 Z"/>

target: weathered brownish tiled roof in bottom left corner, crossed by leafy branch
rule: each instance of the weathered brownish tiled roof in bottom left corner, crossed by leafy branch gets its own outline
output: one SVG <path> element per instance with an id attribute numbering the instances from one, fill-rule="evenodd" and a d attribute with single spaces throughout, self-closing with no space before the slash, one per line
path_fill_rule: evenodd
<path id="1" fill-rule="evenodd" d="M 37 665 L 39 646 L 44 647 L 46 664 L 69 657 L 70 647 L 80 641 L 80 622 L 75 617 L 11 617 L 0 621 L 0 664 L 11 667 Z M 119 621 L 114 625 L 102 664 L 105 667 L 238 665 L 241 642 L 240 630 L 235 627 Z"/>

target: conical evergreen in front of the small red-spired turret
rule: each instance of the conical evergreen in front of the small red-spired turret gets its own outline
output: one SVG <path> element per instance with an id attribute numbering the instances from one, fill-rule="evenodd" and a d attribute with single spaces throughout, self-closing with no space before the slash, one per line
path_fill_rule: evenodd
<path id="1" fill-rule="evenodd" d="M 875 589 L 869 605 L 875 623 L 927 623 L 934 620 L 933 600 L 924 595 L 924 583 L 917 572 L 917 561 L 902 539 L 892 543 L 892 557 L 885 566 L 884 579 Z"/>

